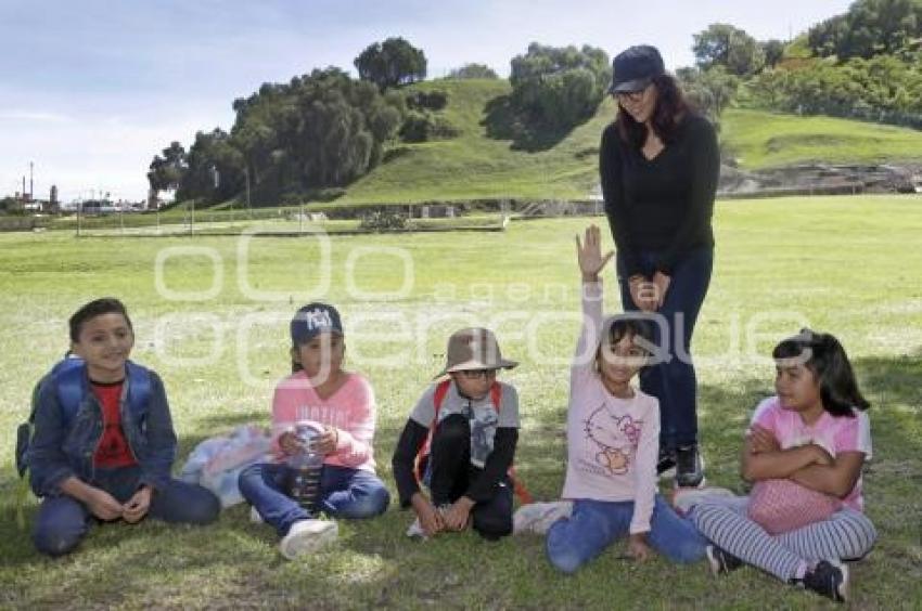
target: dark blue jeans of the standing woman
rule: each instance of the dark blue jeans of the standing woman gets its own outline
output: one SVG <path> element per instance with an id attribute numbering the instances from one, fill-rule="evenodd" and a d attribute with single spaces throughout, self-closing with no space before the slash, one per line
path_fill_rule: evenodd
<path id="1" fill-rule="evenodd" d="M 657 255 L 643 251 L 639 255 L 651 277 Z M 660 324 L 653 325 L 654 342 L 666 348 L 665 360 L 640 373 L 640 389 L 660 400 L 660 446 L 664 450 L 697 443 L 697 378 L 691 360 L 691 340 L 713 268 L 714 249 L 709 247 L 690 250 L 676 263 L 666 300 L 657 312 Z M 617 270 L 622 306 L 625 312 L 637 311 L 620 256 Z"/>

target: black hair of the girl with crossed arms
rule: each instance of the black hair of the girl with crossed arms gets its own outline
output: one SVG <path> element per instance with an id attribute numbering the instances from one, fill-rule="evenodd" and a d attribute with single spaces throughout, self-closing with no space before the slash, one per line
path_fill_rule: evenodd
<path id="1" fill-rule="evenodd" d="M 833 416 L 854 416 L 853 407 L 865 411 L 871 406 L 858 390 L 845 349 L 831 334 L 801 329 L 776 346 L 771 355 L 776 360 L 802 360 L 819 381 L 823 410 Z"/>

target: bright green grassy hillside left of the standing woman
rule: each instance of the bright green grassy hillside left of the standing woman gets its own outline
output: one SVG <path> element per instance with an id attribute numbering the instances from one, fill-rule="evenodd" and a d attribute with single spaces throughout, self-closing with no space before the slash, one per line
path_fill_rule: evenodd
<path id="1" fill-rule="evenodd" d="M 510 133 L 512 117 L 503 104 L 512 91 L 508 81 L 443 80 L 409 91 L 413 89 L 448 93 L 441 113 L 460 130 L 459 136 L 401 144 L 392 150 L 388 161 L 349 186 L 341 202 L 578 198 L 594 188 L 599 136 L 614 116 L 611 102 L 559 142 L 553 134 L 538 134 L 523 144 Z M 491 138 L 488 132 L 507 138 Z M 516 150 L 517 145 L 534 151 Z"/>

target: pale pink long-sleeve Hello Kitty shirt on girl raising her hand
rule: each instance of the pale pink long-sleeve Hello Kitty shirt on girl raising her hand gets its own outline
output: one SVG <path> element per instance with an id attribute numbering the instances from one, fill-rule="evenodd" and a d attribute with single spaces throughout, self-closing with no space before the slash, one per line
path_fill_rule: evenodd
<path id="1" fill-rule="evenodd" d="M 561 496 L 632 500 L 630 532 L 648 532 L 656 495 L 660 402 L 638 389 L 631 399 L 618 399 L 596 373 L 603 328 L 600 283 L 582 285 L 582 314 L 569 373 L 566 480 Z"/>

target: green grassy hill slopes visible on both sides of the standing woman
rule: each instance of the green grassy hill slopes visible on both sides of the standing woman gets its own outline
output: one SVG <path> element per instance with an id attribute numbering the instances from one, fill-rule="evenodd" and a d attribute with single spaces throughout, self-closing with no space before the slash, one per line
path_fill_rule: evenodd
<path id="1" fill-rule="evenodd" d="M 436 89 L 448 93 L 440 114 L 460 134 L 399 144 L 337 202 L 582 198 L 597 188 L 599 136 L 615 112 L 610 99 L 568 133 L 516 136 L 508 81 L 439 80 L 406 91 Z M 730 109 L 721 136 L 743 169 L 805 161 L 922 161 L 920 131 L 830 117 Z"/>

